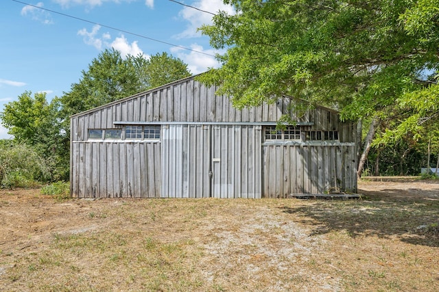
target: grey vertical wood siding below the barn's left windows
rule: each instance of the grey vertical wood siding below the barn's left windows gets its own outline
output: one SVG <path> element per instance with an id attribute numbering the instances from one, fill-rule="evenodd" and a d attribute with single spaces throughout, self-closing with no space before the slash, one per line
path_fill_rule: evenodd
<path id="1" fill-rule="evenodd" d="M 160 197 L 159 143 L 73 143 L 71 151 L 73 197 Z"/>

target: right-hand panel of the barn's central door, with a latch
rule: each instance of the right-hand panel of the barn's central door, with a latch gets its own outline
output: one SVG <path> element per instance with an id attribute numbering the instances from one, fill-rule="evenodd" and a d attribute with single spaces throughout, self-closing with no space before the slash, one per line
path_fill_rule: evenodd
<path id="1" fill-rule="evenodd" d="M 261 198 L 260 127 L 211 127 L 211 196 Z"/>

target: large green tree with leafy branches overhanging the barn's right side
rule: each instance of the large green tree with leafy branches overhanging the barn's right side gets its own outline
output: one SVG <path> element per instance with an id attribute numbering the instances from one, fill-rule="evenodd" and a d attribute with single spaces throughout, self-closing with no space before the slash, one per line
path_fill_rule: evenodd
<path id="1" fill-rule="evenodd" d="M 220 84 L 237 107 L 287 94 L 372 120 L 360 174 L 381 120 L 397 118 L 399 98 L 439 68 L 437 2 L 225 0 L 237 13 L 201 27 L 215 49 L 227 49 L 222 67 L 200 81 Z"/>

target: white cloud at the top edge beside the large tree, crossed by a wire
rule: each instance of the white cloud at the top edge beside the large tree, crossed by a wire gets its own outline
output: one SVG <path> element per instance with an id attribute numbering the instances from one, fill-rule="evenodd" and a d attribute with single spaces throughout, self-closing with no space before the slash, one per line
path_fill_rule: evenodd
<path id="1" fill-rule="evenodd" d="M 235 14 L 233 7 L 225 5 L 222 0 L 198 0 L 194 1 L 191 6 L 200 10 L 217 13 L 219 10 L 226 11 L 228 14 Z M 179 15 L 188 21 L 185 31 L 178 34 L 176 38 L 197 38 L 201 33 L 197 31 L 202 25 L 212 24 L 212 14 L 201 12 L 190 7 L 183 8 Z"/>

